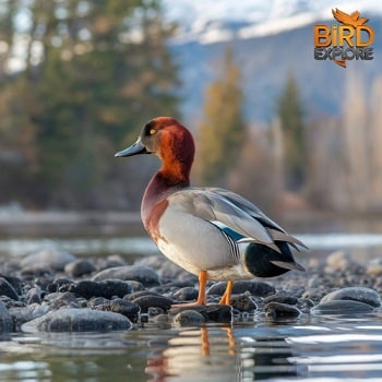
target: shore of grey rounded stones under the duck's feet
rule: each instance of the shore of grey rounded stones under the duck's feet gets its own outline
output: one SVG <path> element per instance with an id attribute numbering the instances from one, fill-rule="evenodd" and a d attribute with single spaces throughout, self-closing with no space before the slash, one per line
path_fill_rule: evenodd
<path id="1" fill-rule="evenodd" d="M 174 308 L 195 300 L 198 279 L 163 255 L 129 263 L 119 255 L 76 258 L 45 249 L 0 259 L 0 332 L 104 332 L 147 324 L 381 314 L 381 260 L 358 263 L 336 252 L 303 265 L 307 273 L 236 282 L 231 307 L 217 305 L 225 283 L 210 283 L 206 307 Z"/>

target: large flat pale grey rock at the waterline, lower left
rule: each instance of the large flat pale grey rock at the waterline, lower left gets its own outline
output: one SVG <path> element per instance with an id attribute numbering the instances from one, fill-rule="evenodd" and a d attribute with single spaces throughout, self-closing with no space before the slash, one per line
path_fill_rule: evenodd
<path id="1" fill-rule="evenodd" d="M 130 330 L 131 321 L 119 313 L 102 310 L 60 309 L 22 325 L 25 333 L 36 332 L 105 332 Z"/>

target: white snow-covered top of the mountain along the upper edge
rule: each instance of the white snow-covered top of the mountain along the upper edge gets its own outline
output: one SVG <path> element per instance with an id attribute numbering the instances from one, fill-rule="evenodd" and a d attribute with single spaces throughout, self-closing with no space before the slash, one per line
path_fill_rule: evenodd
<path id="1" fill-rule="evenodd" d="M 382 13 L 380 0 L 163 0 L 169 21 L 179 25 L 178 44 L 213 44 L 277 34 L 345 12 Z"/>

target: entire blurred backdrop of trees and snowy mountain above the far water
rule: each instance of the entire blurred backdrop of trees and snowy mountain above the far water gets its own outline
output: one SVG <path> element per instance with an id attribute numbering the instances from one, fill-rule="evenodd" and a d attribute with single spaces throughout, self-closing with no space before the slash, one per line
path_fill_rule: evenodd
<path id="1" fill-rule="evenodd" d="M 370 19 L 373 60 L 314 60 L 335 7 Z M 380 1 L 1 0 L 1 208 L 139 211 L 158 160 L 114 154 L 174 116 L 194 186 L 382 213 L 381 55 Z"/>

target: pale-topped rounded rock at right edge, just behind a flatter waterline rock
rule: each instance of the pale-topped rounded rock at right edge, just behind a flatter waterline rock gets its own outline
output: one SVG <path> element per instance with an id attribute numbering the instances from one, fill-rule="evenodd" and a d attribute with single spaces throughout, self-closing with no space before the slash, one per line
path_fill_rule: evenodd
<path id="1" fill-rule="evenodd" d="M 325 295 L 320 302 L 327 302 L 334 300 L 355 300 L 368 303 L 371 307 L 378 308 L 381 306 L 381 297 L 371 288 L 363 287 L 348 287 L 334 290 Z"/>

